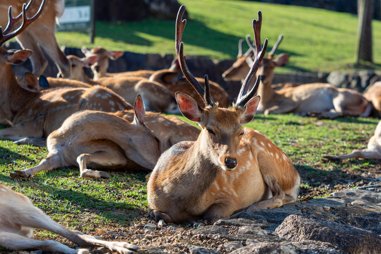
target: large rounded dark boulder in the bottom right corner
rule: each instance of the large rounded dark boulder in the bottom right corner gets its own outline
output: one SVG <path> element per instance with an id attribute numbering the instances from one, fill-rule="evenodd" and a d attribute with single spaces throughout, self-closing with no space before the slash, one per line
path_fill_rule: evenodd
<path id="1" fill-rule="evenodd" d="M 288 216 L 275 230 L 275 234 L 291 242 L 327 242 L 351 254 L 381 252 L 381 236 L 306 214 Z"/>

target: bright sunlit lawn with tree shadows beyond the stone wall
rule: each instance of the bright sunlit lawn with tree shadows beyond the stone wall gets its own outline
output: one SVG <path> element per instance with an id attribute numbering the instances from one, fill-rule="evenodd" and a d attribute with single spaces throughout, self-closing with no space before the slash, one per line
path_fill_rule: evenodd
<path id="1" fill-rule="evenodd" d="M 253 36 L 252 20 L 262 11 L 262 42 L 269 50 L 279 34 L 284 35 L 279 53 L 291 55 L 277 72 L 352 70 L 356 45 L 357 16 L 324 9 L 242 0 L 180 0 L 189 19 L 184 31 L 185 54 L 212 59 L 235 59 L 238 40 Z M 381 21 L 373 21 L 373 56 L 381 70 Z M 149 18 L 141 22 L 96 22 L 95 44 L 77 32 L 59 32 L 60 45 L 80 48 L 102 45 L 135 53 L 174 54 L 175 20 Z"/>

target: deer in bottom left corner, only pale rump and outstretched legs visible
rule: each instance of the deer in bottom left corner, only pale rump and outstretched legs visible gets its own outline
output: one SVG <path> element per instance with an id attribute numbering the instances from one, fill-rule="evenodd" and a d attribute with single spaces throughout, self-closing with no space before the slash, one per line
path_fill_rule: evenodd
<path id="1" fill-rule="evenodd" d="M 103 246 L 120 254 L 136 254 L 138 247 L 125 242 L 107 242 L 53 221 L 24 195 L 0 185 L 0 246 L 9 250 L 41 250 L 49 253 L 90 254 L 87 249 L 71 249 L 53 240 L 34 240 L 33 228 L 49 230 L 78 246 Z"/>

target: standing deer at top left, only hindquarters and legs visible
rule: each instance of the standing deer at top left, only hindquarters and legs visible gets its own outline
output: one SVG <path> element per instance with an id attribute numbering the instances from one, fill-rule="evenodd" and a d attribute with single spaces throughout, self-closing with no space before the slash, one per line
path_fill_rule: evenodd
<path id="1" fill-rule="evenodd" d="M 2 33 L 6 34 L 12 30 L 12 26 L 20 23 L 22 18 L 22 6 L 26 0 L 2 0 L 0 5 L 0 13 L 7 15 L 0 16 L 0 26 L 3 27 Z M 8 9 L 9 6 L 9 9 Z M 16 36 L 16 40 L 23 49 L 30 49 L 33 55 L 30 61 L 33 68 L 33 74 L 39 77 L 48 65 L 41 48 L 54 61 L 64 77 L 70 76 L 70 65 L 64 53 L 58 46 L 55 29 L 56 20 L 61 17 L 64 12 L 64 0 L 30 0 L 26 5 L 26 10 L 31 13 L 37 13 L 40 9 L 44 9 L 40 18 L 31 24 L 23 33 Z M 18 14 L 14 18 L 12 14 Z M 7 18 L 9 22 L 7 23 Z M 5 28 L 4 28 L 5 27 Z"/>

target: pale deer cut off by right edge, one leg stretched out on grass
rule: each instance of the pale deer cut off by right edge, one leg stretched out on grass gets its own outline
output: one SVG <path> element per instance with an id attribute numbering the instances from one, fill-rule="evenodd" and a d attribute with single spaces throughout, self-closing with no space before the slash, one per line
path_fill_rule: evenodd
<path id="1" fill-rule="evenodd" d="M 331 161 L 340 161 L 350 158 L 363 158 L 363 159 L 381 159 L 381 121 L 376 127 L 375 134 L 369 139 L 368 148 L 355 149 L 349 154 L 344 155 L 325 155 L 323 158 Z"/>

